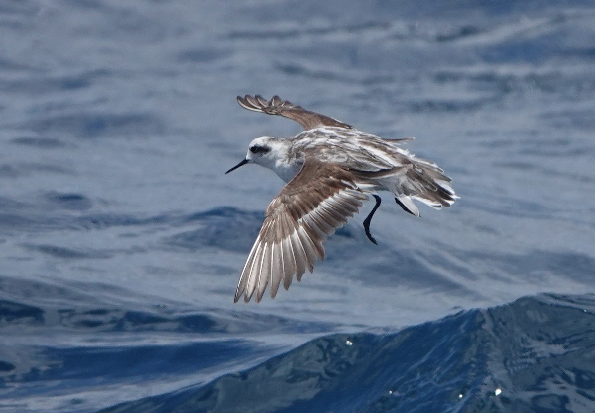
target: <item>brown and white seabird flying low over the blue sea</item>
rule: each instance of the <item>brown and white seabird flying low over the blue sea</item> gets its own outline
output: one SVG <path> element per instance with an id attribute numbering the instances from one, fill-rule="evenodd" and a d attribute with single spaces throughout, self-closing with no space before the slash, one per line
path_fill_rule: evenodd
<path id="1" fill-rule="evenodd" d="M 440 209 L 458 198 L 449 185 L 451 179 L 436 163 L 396 147 L 413 138 L 383 139 L 277 95 L 271 100 L 259 95 L 236 99 L 248 110 L 293 119 L 305 131 L 290 138 L 254 139 L 245 159 L 226 172 L 255 163 L 287 182 L 267 207 L 234 303 L 242 295 L 248 303 L 255 293 L 260 302 L 267 285 L 274 298 L 281 281 L 287 290 L 294 276 L 301 281 L 306 269 L 314 271 L 317 259 L 324 259 L 324 240 L 358 213 L 369 195 L 376 204 L 364 229 L 376 243 L 369 225 L 381 203 L 377 191 L 392 192 L 397 204 L 414 216 L 419 216 L 414 200 Z"/>

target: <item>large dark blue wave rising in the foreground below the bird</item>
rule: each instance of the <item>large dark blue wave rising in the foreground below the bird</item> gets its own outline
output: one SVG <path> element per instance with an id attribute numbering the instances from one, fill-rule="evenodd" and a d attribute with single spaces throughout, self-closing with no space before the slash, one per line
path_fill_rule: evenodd
<path id="1" fill-rule="evenodd" d="M 591 411 L 593 296 L 524 297 L 398 333 L 334 334 L 119 412 Z"/>

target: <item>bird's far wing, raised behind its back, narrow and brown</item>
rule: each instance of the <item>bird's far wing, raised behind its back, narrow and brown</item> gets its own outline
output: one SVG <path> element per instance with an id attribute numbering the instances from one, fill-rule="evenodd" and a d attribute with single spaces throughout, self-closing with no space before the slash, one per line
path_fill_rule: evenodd
<path id="1" fill-rule="evenodd" d="M 303 126 L 306 131 L 309 129 L 320 128 L 321 126 L 335 126 L 336 128 L 353 129 L 352 126 L 340 122 L 332 117 L 324 116 L 320 113 L 305 110 L 301 106 L 296 106 L 289 101 L 281 100 L 277 95 L 270 101 L 262 98 L 261 95 L 254 97 L 246 95 L 245 97 L 236 97 L 237 103 L 248 110 L 262 112 L 267 114 L 276 114 L 295 120 Z"/>

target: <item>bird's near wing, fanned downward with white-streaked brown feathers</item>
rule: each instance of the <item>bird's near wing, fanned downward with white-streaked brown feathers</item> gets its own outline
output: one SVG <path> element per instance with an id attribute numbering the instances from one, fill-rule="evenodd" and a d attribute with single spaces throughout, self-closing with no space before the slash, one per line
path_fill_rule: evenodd
<path id="1" fill-rule="evenodd" d="M 234 303 L 242 294 L 248 303 L 255 291 L 258 303 L 269 283 L 274 298 L 281 280 L 287 290 L 294 275 L 300 281 L 306 268 L 314 271 L 316 260 L 324 259 L 322 242 L 327 235 L 368 200 L 353 179 L 337 164 L 306 159 L 300 172 L 268 206 L 237 284 Z"/>

